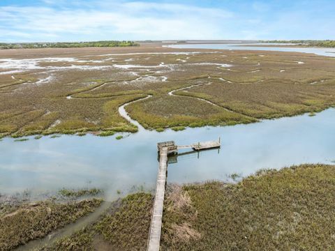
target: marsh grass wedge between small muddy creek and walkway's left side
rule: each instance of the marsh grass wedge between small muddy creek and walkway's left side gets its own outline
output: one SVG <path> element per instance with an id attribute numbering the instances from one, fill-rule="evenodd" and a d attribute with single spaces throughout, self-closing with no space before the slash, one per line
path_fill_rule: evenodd
<path id="1" fill-rule="evenodd" d="M 144 192 L 112 203 L 97 222 L 42 250 L 146 250 L 153 197 Z"/>

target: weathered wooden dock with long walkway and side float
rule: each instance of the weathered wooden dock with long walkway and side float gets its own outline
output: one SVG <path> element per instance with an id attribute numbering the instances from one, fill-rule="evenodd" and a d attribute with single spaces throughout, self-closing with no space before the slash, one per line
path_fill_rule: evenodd
<path id="1" fill-rule="evenodd" d="M 148 251 L 159 251 L 161 243 L 161 229 L 163 218 L 163 205 L 165 195 L 166 177 L 168 171 L 168 155 L 178 153 L 178 149 L 193 149 L 201 151 L 205 149 L 214 149 L 220 147 L 218 142 L 198 142 L 188 146 L 177 146 L 174 142 L 161 142 L 157 144 L 159 154 L 159 167 L 156 182 L 156 194 L 154 199 L 154 208 L 151 215 L 151 225 L 147 244 Z"/>

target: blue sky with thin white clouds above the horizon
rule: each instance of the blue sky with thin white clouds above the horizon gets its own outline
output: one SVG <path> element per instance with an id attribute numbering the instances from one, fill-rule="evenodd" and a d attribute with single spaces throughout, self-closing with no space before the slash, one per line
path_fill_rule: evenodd
<path id="1" fill-rule="evenodd" d="M 335 39 L 334 0 L 0 0 L 0 42 Z"/>

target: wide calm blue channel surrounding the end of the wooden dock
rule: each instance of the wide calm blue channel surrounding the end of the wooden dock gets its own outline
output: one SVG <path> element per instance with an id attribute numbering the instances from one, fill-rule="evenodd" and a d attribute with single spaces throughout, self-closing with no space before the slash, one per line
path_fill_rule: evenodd
<path id="1" fill-rule="evenodd" d="M 152 189 L 158 169 L 156 143 L 174 140 L 190 144 L 221 137 L 221 149 L 181 155 L 168 167 L 168 182 L 227 180 L 261 168 L 335 160 L 335 109 L 316 116 L 295 116 L 248 125 L 188 128 L 181 132 L 140 130 L 112 137 L 62 135 L 51 139 L 29 137 L 27 142 L 0 142 L 0 191 L 33 193 L 59 188 L 96 186 L 107 190 Z M 171 160 L 172 161 L 172 160 Z"/>

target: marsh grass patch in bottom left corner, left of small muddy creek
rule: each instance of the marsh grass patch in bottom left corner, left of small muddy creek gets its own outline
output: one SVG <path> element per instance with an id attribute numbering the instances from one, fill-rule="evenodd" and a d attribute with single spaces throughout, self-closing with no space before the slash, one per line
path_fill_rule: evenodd
<path id="1" fill-rule="evenodd" d="M 87 215 L 100 206 L 102 199 L 84 199 L 58 203 L 53 199 L 22 204 L 0 218 L 0 250 L 13 250 L 19 245 L 42 238 L 55 229 Z"/>

